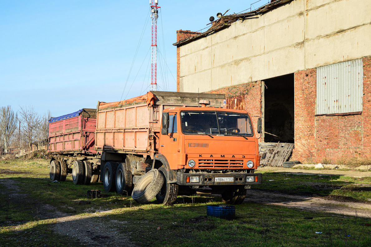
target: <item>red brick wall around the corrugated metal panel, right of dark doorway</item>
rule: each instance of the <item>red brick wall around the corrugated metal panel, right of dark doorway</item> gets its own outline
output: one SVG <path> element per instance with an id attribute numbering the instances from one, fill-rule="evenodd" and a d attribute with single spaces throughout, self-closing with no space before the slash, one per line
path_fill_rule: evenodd
<path id="1" fill-rule="evenodd" d="M 363 59 L 363 73 L 362 114 L 348 116 L 315 116 L 316 69 L 295 73 L 293 159 L 371 158 L 371 57 Z"/>

